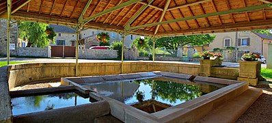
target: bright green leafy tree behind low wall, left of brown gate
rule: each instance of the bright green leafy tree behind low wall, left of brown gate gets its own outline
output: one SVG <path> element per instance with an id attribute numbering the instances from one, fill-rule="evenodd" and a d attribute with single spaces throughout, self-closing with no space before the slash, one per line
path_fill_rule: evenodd
<path id="1" fill-rule="evenodd" d="M 27 46 L 49 46 L 50 42 L 54 41 L 56 33 L 51 31 L 50 34 L 46 34 L 45 30 L 49 29 L 48 24 L 35 23 L 35 22 L 21 22 L 18 23 L 19 37 L 23 40 L 28 40 Z M 50 28 L 51 29 L 51 28 Z"/>

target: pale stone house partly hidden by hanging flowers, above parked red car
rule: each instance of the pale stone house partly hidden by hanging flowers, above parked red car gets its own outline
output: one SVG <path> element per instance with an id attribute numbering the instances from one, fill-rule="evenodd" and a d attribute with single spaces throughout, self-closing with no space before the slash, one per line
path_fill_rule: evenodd
<path id="1" fill-rule="evenodd" d="M 103 30 L 98 30 L 98 29 L 85 29 L 80 31 L 80 35 L 79 35 L 79 39 L 82 38 L 89 38 L 90 36 L 96 36 L 98 33 L 101 32 L 107 32 L 109 33 L 109 43 L 111 44 L 114 41 L 120 41 L 122 40 L 122 36 L 120 36 L 118 33 L 113 32 L 113 31 L 103 31 Z M 124 45 L 126 47 L 131 47 L 133 40 L 135 40 L 136 38 L 138 38 L 140 36 L 137 35 L 128 35 L 124 38 Z M 95 44 L 92 44 L 95 45 Z M 86 47 L 90 47 L 87 46 Z"/>

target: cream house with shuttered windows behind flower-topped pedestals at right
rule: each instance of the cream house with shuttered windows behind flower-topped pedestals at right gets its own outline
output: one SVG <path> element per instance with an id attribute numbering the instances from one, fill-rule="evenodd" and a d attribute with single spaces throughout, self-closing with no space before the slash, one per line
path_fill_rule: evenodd
<path id="1" fill-rule="evenodd" d="M 215 40 L 208 45 L 206 50 L 213 51 L 215 48 L 226 49 L 228 46 L 235 47 L 235 32 L 214 33 Z M 241 52 L 255 52 L 267 58 L 267 46 L 272 41 L 272 37 L 266 34 L 252 33 L 251 31 L 238 32 L 238 49 Z"/>

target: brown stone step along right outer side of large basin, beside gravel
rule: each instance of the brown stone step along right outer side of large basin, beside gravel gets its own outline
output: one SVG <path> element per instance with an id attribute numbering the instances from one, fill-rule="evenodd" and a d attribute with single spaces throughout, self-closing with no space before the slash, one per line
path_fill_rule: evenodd
<path id="1" fill-rule="evenodd" d="M 235 122 L 262 94 L 262 90 L 249 88 L 240 96 L 230 99 L 198 122 Z"/>

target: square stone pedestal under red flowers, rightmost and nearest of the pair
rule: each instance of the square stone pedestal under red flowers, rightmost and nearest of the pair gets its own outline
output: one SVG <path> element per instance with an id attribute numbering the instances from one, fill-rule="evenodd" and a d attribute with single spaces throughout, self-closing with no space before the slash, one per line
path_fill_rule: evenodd
<path id="1" fill-rule="evenodd" d="M 239 61 L 238 81 L 248 82 L 249 85 L 257 85 L 260 79 L 260 61 Z"/>

